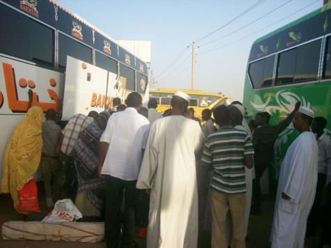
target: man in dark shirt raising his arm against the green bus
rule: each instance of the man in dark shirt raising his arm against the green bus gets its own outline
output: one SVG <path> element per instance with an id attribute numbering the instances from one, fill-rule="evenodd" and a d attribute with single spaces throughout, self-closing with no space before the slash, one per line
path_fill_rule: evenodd
<path id="1" fill-rule="evenodd" d="M 253 133 L 254 146 L 254 167 L 255 179 L 253 180 L 253 205 L 252 214 L 259 215 L 261 211 L 261 185 L 260 179 L 265 169 L 268 168 L 274 159 L 274 145 L 280 134 L 292 121 L 294 114 L 300 108 L 301 102 L 295 103 L 294 110 L 287 118 L 278 125 L 269 125 L 270 114 L 268 112 L 260 112 L 256 114 L 254 123 L 258 126 Z"/>

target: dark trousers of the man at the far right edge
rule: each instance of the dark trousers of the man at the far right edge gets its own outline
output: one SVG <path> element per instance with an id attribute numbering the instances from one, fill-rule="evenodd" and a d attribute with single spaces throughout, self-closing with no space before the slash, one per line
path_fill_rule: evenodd
<path id="1" fill-rule="evenodd" d="M 321 212 L 321 199 L 325 180 L 326 175 L 318 173 L 315 199 L 307 220 L 307 231 L 315 231 L 316 224 L 318 223 L 318 212 Z"/>

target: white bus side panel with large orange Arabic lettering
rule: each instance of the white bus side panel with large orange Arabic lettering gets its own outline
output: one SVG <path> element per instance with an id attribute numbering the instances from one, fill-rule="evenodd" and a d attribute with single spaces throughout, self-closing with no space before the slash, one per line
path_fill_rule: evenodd
<path id="1" fill-rule="evenodd" d="M 59 111 L 63 78 L 60 72 L 0 56 L 0 114 L 25 112 L 29 89 L 32 106 Z"/>

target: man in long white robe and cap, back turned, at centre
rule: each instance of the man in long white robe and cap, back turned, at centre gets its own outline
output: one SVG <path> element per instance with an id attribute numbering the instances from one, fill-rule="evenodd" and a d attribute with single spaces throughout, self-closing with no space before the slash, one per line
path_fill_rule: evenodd
<path id="1" fill-rule="evenodd" d="M 137 188 L 151 189 L 147 247 L 194 248 L 198 240 L 196 159 L 203 144 L 197 121 L 183 115 L 190 96 L 178 92 L 172 115 L 151 126 Z"/>

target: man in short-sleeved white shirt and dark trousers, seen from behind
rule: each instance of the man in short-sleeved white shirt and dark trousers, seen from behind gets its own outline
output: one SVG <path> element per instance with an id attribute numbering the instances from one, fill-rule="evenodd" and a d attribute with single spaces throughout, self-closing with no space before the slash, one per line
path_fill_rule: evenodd
<path id="1" fill-rule="evenodd" d="M 121 230 L 121 203 L 125 192 L 122 247 L 134 246 L 134 196 L 150 124 L 138 113 L 141 95 L 132 92 L 128 108 L 112 114 L 100 139 L 98 176 L 106 178 L 105 238 L 107 247 L 118 247 Z"/>

